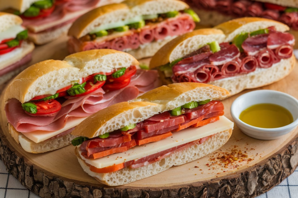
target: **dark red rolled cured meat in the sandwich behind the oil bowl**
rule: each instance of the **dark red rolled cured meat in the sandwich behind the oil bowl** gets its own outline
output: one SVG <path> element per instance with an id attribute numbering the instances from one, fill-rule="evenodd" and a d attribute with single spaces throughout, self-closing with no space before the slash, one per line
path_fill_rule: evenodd
<path id="1" fill-rule="evenodd" d="M 209 83 L 269 68 L 283 58 L 290 58 L 294 36 L 268 28 L 268 34 L 248 37 L 241 45 L 243 52 L 232 43 L 220 43 L 220 51 L 213 53 L 209 45 L 185 56 L 172 67 L 173 82 Z M 241 50 L 242 50 L 241 49 Z"/>

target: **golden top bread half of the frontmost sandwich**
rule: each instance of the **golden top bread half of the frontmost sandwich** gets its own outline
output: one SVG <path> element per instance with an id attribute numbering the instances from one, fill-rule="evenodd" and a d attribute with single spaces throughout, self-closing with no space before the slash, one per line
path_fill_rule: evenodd
<path id="1" fill-rule="evenodd" d="M 202 83 L 174 83 L 155 88 L 131 102 L 121 102 L 94 113 L 73 131 L 73 135 L 96 137 L 129 124 L 139 123 L 160 112 L 192 101 L 221 100 L 229 96 L 223 88 Z"/>

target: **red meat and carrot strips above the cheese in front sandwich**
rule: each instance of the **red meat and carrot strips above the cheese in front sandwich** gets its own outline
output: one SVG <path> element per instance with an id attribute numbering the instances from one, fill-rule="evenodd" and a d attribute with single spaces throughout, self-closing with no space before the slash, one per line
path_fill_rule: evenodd
<path id="1" fill-rule="evenodd" d="M 167 111 L 137 123 L 136 127 L 128 131 L 117 130 L 109 133 L 108 138 L 96 137 L 86 140 L 79 149 L 86 159 L 97 159 L 127 151 L 135 145 L 162 140 L 171 136 L 172 132 L 191 126 L 198 127 L 215 122 L 221 115 L 224 115 L 224 105 L 220 101 L 211 101 L 193 109 L 184 109 L 184 113 L 178 116 L 173 116 Z"/>

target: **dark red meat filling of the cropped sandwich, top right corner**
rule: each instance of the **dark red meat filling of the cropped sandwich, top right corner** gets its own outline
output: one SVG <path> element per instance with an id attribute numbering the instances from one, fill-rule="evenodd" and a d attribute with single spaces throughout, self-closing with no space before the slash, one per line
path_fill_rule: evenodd
<path id="1" fill-rule="evenodd" d="M 187 4 L 199 9 L 214 10 L 225 15 L 239 17 L 262 17 L 280 21 L 298 30 L 298 10 L 286 7 L 255 2 L 251 0 L 184 0 Z"/>

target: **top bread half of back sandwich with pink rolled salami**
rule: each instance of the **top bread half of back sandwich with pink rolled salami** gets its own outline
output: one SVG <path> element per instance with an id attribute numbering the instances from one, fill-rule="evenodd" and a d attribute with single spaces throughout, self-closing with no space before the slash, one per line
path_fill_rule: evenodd
<path id="1" fill-rule="evenodd" d="M 179 0 L 128 0 L 119 4 L 105 5 L 93 9 L 78 18 L 69 29 L 68 35 L 80 38 L 101 25 L 131 19 L 140 15 L 184 10 L 188 7 L 187 4 Z"/>

